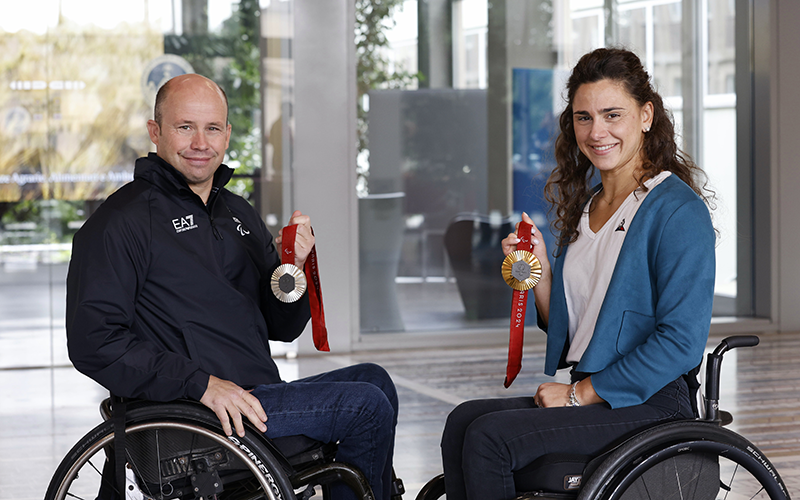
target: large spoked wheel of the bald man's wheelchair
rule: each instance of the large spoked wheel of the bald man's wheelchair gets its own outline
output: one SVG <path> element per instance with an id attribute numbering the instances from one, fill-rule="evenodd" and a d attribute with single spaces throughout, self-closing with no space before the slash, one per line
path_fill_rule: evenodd
<path id="1" fill-rule="evenodd" d="M 219 422 L 185 405 L 131 409 L 126 420 L 125 500 L 295 498 L 288 469 L 257 431 L 225 437 Z M 56 469 L 45 500 L 119 500 L 113 441 L 109 421 L 86 434 Z"/>

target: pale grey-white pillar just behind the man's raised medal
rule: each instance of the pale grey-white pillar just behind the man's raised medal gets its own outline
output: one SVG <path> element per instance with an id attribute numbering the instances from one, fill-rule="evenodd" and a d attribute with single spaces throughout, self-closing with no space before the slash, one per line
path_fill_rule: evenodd
<path id="1" fill-rule="evenodd" d="M 355 185 L 355 4 L 295 2 L 293 195 L 311 216 L 331 351 L 358 332 L 358 214 Z M 299 352 L 313 352 L 311 327 Z"/>

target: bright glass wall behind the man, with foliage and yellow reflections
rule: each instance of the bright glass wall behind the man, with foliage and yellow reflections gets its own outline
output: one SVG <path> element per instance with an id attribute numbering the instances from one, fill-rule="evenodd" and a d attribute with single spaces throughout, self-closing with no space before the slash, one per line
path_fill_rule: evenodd
<path id="1" fill-rule="evenodd" d="M 16 2 L 0 16 L 0 369 L 68 363 L 75 231 L 151 149 L 155 92 L 197 72 L 228 92 L 229 184 L 260 206 L 259 4 Z"/>

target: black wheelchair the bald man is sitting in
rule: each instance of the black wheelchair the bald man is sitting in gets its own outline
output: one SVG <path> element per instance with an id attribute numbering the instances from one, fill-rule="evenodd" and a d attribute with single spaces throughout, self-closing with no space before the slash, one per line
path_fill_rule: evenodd
<path id="1" fill-rule="evenodd" d="M 360 470 L 335 461 L 335 444 L 269 439 L 246 421 L 243 437 L 225 436 L 214 413 L 189 400 L 112 396 L 100 412 L 104 422 L 61 461 L 45 500 L 308 500 L 316 486 L 329 498 L 335 482 L 357 498 L 375 498 Z M 392 500 L 401 500 L 403 483 L 393 479 Z M 124 496 L 117 488 L 123 481 Z"/>

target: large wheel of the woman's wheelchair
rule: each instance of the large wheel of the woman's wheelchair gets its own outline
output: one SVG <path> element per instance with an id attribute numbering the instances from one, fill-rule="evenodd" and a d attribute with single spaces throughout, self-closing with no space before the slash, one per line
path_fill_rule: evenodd
<path id="1" fill-rule="evenodd" d="M 788 500 L 778 471 L 752 443 L 711 423 L 642 432 L 603 461 L 579 499 Z"/>

